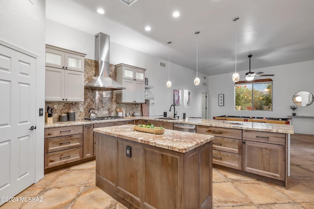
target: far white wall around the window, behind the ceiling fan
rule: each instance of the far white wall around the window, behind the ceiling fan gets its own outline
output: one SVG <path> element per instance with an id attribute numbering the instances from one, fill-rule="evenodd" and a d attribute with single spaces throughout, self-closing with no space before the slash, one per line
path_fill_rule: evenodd
<path id="1" fill-rule="evenodd" d="M 212 116 L 256 116 L 256 117 L 288 117 L 292 115 L 290 105 L 292 96 L 299 91 L 314 93 L 314 60 L 269 68 L 254 69 L 264 74 L 275 74 L 273 80 L 273 111 L 235 111 L 233 73 L 209 76 L 209 117 Z M 247 70 L 246 70 L 247 71 Z M 243 75 L 246 71 L 240 71 Z M 266 78 L 266 77 L 258 77 Z M 268 77 L 267 77 L 268 78 Z M 218 94 L 224 94 L 224 106 L 218 106 Z M 298 107 L 297 116 L 314 116 L 314 104 L 308 107 Z M 314 134 L 314 118 L 293 117 L 294 133 Z"/>

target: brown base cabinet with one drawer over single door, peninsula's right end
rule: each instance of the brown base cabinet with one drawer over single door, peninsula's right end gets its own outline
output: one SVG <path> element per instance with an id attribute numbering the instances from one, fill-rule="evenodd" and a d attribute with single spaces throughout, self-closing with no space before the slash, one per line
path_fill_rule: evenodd
<path id="1" fill-rule="evenodd" d="M 285 134 L 243 130 L 242 170 L 285 181 Z"/>

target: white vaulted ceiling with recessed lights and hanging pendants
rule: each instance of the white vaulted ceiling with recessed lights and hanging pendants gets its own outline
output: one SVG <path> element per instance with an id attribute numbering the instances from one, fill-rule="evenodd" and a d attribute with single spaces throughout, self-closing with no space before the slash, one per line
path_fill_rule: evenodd
<path id="1" fill-rule="evenodd" d="M 47 19 L 164 60 L 170 47 L 171 62 L 192 70 L 198 42 L 207 75 L 235 71 L 235 46 L 238 71 L 249 69 L 248 54 L 252 70 L 314 60 L 313 9 L 314 0 L 46 0 Z"/>

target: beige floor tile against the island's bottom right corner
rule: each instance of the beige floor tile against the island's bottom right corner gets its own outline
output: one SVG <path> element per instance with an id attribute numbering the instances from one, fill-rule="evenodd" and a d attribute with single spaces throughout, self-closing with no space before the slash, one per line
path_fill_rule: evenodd
<path id="1" fill-rule="evenodd" d="M 218 206 L 251 205 L 247 199 L 231 182 L 213 183 L 212 204 Z"/>

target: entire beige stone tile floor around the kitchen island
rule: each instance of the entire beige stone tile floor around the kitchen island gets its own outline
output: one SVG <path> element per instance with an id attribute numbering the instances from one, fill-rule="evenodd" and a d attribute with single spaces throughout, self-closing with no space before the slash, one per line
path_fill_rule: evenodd
<path id="1" fill-rule="evenodd" d="M 213 169 L 214 209 L 314 209 L 314 135 L 291 135 L 289 189 Z M 95 161 L 54 171 L 17 197 L 43 202 L 10 202 L 1 209 L 126 209 L 95 186 Z"/>

